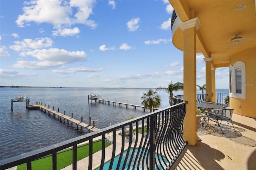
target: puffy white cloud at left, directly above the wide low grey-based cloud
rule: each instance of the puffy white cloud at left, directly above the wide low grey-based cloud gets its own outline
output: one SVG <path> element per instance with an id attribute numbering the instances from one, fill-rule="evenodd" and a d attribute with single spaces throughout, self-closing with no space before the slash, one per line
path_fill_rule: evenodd
<path id="1" fill-rule="evenodd" d="M 15 51 L 27 51 L 31 49 L 40 49 L 45 47 L 51 47 L 53 44 L 52 39 L 50 38 L 36 38 L 32 39 L 24 39 L 23 41 L 14 41 L 15 45 L 11 45 L 10 49 Z"/>

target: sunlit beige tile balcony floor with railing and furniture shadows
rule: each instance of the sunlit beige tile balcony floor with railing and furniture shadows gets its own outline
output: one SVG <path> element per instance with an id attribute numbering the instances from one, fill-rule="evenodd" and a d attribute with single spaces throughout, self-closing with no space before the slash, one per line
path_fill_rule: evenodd
<path id="1" fill-rule="evenodd" d="M 233 127 L 222 121 L 220 128 L 198 129 L 196 146 L 186 146 L 171 170 L 256 170 L 256 119 L 233 114 Z"/>

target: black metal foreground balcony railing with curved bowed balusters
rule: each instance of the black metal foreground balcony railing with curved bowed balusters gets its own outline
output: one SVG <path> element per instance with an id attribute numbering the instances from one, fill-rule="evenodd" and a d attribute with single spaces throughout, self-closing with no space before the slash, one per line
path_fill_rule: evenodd
<path id="1" fill-rule="evenodd" d="M 186 146 L 182 133 L 185 114 L 186 102 L 182 102 L 58 144 L 6 158 L 0 161 L 0 169 L 23 163 L 26 163 L 27 169 L 32 169 L 33 160 L 48 155 L 52 155 L 52 169 L 56 169 L 57 152 L 72 147 L 72 169 L 76 170 L 78 144 L 86 141 L 89 143 L 89 156 L 84 159 L 87 159 L 88 163 L 82 165 L 79 163 L 79 166 L 84 169 L 91 170 L 98 167 L 100 169 L 124 169 L 125 167 L 137 169 L 138 166 L 150 170 L 169 169 Z M 141 134 L 140 127 L 142 127 Z M 101 138 L 102 141 L 110 142 L 111 145 L 105 148 L 105 142 L 102 142 L 101 152 L 93 154 L 95 138 Z M 115 157 L 118 158 L 117 164 L 113 163 Z M 98 158 L 101 159 L 99 162 Z M 121 160 L 124 162 L 121 163 Z M 105 164 L 107 161 L 109 161 L 108 165 Z"/>

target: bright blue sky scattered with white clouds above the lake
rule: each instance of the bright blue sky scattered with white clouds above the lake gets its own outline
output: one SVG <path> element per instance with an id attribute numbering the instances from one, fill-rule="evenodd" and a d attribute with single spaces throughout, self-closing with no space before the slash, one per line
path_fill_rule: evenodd
<path id="1" fill-rule="evenodd" d="M 168 87 L 183 83 L 168 0 L 0 0 L 0 85 Z M 197 61 L 197 85 L 205 61 Z M 228 68 L 216 69 L 228 89 Z"/>

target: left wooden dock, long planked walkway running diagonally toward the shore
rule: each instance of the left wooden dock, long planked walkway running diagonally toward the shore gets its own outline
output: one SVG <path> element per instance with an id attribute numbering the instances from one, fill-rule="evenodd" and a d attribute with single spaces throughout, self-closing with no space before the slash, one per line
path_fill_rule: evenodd
<path id="1" fill-rule="evenodd" d="M 63 118 L 64 120 L 66 119 L 68 122 L 70 121 L 71 123 L 75 123 L 77 127 L 78 127 L 78 125 L 79 125 L 79 126 L 81 126 L 81 127 L 87 128 L 90 132 L 94 132 L 94 131 L 96 131 L 96 130 L 100 130 L 100 129 L 96 128 L 96 127 L 93 127 L 93 126 L 91 126 L 91 125 L 88 125 L 88 124 L 86 124 L 86 123 L 83 123 L 83 122 L 82 122 L 82 117 L 81 117 L 81 121 L 78 121 L 78 120 L 74 119 L 73 116 L 72 116 L 72 117 L 69 117 L 69 116 L 65 115 L 65 113 L 64 113 L 64 114 L 59 113 L 59 112 L 57 112 L 57 111 L 54 111 L 53 109 L 50 109 L 50 108 L 45 107 L 45 106 L 42 106 L 42 105 L 30 105 L 30 106 L 29 106 L 29 109 L 40 109 L 40 110 L 42 110 L 42 111 L 44 110 L 45 113 L 46 113 L 46 111 L 48 111 L 48 113 L 54 114 L 54 117 L 57 115 L 58 117 L 60 117 L 60 120 L 61 120 L 62 118 Z M 73 115 L 73 114 L 72 114 L 72 115 Z"/>

